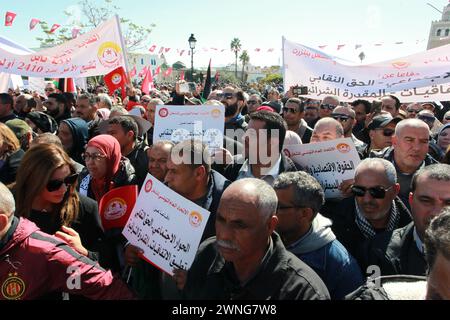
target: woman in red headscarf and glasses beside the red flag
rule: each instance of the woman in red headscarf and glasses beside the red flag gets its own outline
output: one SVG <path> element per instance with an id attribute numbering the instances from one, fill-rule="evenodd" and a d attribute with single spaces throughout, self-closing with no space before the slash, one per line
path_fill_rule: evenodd
<path id="1" fill-rule="evenodd" d="M 86 168 L 80 174 L 79 193 L 98 203 L 110 190 L 137 184 L 130 161 L 122 156 L 116 138 L 102 134 L 89 140 L 83 154 Z M 126 239 L 122 230 L 105 230 L 104 248 L 100 252 L 100 264 L 116 272 L 123 271 L 123 246 Z"/>

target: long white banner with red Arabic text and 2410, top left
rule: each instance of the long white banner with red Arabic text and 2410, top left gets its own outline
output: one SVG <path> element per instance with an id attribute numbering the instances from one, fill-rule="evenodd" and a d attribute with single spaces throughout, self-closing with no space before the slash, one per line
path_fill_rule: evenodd
<path id="1" fill-rule="evenodd" d="M 38 78 L 104 75 L 125 67 L 118 17 L 59 46 L 34 53 L 0 48 L 0 72 Z"/>

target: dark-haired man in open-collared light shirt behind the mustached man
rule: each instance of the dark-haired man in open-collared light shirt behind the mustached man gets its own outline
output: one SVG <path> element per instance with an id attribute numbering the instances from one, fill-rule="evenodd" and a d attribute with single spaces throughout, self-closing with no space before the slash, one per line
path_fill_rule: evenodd
<path id="1" fill-rule="evenodd" d="M 244 136 L 244 155 L 234 157 L 224 176 L 231 181 L 259 178 L 272 185 L 280 173 L 298 171 L 292 160 L 281 152 L 285 136 L 286 122 L 279 114 L 252 113 Z"/>

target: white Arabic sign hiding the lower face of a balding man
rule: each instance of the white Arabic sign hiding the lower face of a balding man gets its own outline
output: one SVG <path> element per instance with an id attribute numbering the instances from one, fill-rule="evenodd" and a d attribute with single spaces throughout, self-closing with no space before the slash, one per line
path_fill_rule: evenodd
<path id="1" fill-rule="evenodd" d="M 289 145 L 283 152 L 319 181 L 327 199 L 342 196 L 339 185 L 355 177 L 360 162 L 351 138 Z"/>

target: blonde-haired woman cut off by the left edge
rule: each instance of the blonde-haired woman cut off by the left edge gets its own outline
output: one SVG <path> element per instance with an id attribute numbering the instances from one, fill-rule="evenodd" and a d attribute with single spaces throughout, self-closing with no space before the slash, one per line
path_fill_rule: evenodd
<path id="1" fill-rule="evenodd" d="M 14 132 L 0 122 L 0 182 L 9 185 L 16 180 L 17 169 L 24 154 Z"/>

